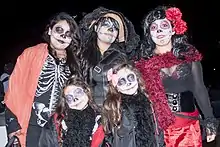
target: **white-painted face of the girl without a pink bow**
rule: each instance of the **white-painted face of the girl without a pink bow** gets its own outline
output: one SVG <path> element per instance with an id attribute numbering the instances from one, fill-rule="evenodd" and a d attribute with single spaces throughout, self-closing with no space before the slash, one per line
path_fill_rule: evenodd
<path id="1" fill-rule="evenodd" d="M 64 89 L 64 95 L 66 103 L 71 109 L 83 110 L 88 106 L 89 98 L 81 87 L 67 86 Z"/>

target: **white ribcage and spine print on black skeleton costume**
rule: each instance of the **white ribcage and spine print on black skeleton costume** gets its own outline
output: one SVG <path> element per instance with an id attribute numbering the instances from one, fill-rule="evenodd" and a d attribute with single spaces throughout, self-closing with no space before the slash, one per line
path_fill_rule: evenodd
<path id="1" fill-rule="evenodd" d="M 48 107 L 50 112 L 54 111 L 60 90 L 69 75 L 69 68 L 65 68 L 64 63 L 60 62 L 57 65 L 54 58 L 48 55 L 41 70 L 35 97 L 38 98 L 52 89 Z"/>

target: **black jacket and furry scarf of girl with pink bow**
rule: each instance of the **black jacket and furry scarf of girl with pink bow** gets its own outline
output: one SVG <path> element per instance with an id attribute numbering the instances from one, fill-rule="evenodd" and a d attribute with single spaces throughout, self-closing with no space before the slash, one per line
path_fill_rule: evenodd
<path id="1" fill-rule="evenodd" d="M 151 103 L 140 92 L 122 95 L 122 120 L 108 136 L 112 147 L 158 147 L 156 122 Z M 107 137 L 106 137 L 107 138 Z"/>

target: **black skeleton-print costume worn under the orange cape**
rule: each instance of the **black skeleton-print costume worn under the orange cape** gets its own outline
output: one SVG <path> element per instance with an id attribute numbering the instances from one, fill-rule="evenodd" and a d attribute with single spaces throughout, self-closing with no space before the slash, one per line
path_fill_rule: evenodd
<path id="1" fill-rule="evenodd" d="M 27 135 L 27 141 L 34 143 L 36 142 L 36 139 L 39 138 L 41 127 L 47 123 L 49 117 L 54 112 L 60 90 L 69 75 L 69 68 L 66 67 L 64 63 L 57 62 L 51 54 L 47 55 L 39 75 L 37 89 L 32 104 L 29 127 L 27 130 L 27 134 L 30 135 Z M 9 117 L 12 115 L 9 109 L 7 109 L 6 113 L 9 114 Z M 10 125 L 8 128 L 9 132 L 20 128 L 16 121 L 16 118 L 10 117 L 8 123 L 14 123 L 14 125 Z"/>

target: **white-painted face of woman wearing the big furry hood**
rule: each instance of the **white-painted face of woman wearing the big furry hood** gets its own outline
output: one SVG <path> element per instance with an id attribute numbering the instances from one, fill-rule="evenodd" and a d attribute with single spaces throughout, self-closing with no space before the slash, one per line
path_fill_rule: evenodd
<path id="1" fill-rule="evenodd" d="M 103 18 L 99 21 L 95 30 L 97 32 L 98 39 L 101 42 L 112 44 L 118 36 L 119 24 L 113 18 Z"/>

